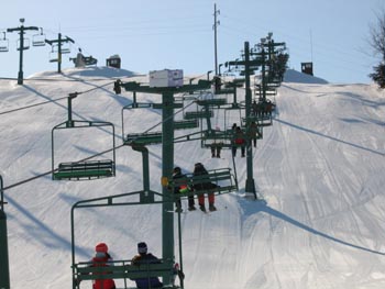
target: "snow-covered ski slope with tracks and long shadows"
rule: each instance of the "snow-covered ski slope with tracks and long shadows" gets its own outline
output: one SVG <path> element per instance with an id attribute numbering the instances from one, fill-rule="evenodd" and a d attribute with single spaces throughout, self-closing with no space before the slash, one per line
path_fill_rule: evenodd
<path id="1" fill-rule="evenodd" d="M 114 123 L 119 145 L 121 109 L 132 96 L 116 96 L 110 77 L 146 78 L 116 73 L 108 68 L 69 69 L 63 76 L 43 73 L 22 87 L 0 80 L 0 113 L 89 91 L 74 100 L 74 119 Z M 81 81 L 75 81 L 78 78 Z M 161 101 L 154 95 L 138 98 Z M 274 125 L 264 129 L 253 159 L 255 184 L 265 201 L 244 198 L 245 159 L 237 158 L 241 191 L 219 196 L 218 212 L 183 214 L 185 287 L 384 288 L 384 92 L 369 85 L 302 79 L 284 82 L 275 101 Z M 51 170 L 51 130 L 66 120 L 66 100 L 0 118 L 11 286 L 70 288 L 72 205 L 142 189 L 142 157 L 129 147 L 119 148 L 116 178 L 67 182 L 47 175 L 20 184 Z M 143 132 L 158 123 L 161 114 L 132 110 L 124 121 L 125 132 Z M 55 141 L 57 162 L 111 147 L 111 132 L 86 130 L 61 132 Z M 222 157 L 211 159 L 199 142 L 175 146 L 175 164 L 184 170 L 191 170 L 196 162 L 208 168 L 231 166 L 230 152 Z M 161 146 L 150 147 L 150 162 L 151 187 L 160 191 Z M 7 189 L 11 185 L 16 186 Z M 162 255 L 158 205 L 79 210 L 76 221 L 78 260 L 89 259 L 100 241 L 108 243 L 116 259 L 133 256 L 140 241 Z"/>

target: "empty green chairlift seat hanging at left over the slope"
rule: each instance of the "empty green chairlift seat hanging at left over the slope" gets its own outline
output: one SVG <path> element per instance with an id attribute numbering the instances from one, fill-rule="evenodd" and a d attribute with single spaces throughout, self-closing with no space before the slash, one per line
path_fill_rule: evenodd
<path id="1" fill-rule="evenodd" d="M 52 130 L 52 171 L 54 180 L 85 180 L 85 179 L 99 179 L 106 177 L 113 177 L 116 175 L 116 136 L 114 125 L 110 122 L 103 121 L 79 121 L 72 119 L 72 100 L 77 97 L 77 92 L 70 93 L 68 97 L 68 120 L 57 124 Z M 78 160 L 67 162 L 58 164 L 55 168 L 55 132 L 58 130 L 67 129 L 91 129 L 91 127 L 110 127 L 110 134 L 112 136 L 112 159 L 99 159 L 97 160 Z M 109 152 L 108 151 L 108 152 Z"/>

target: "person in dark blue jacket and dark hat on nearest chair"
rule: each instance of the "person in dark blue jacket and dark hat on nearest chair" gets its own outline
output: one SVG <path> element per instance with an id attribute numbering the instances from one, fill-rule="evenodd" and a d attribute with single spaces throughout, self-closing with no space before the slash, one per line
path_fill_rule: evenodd
<path id="1" fill-rule="evenodd" d="M 141 264 L 156 264 L 161 263 L 161 260 L 155 257 L 153 254 L 147 253 L 147 244 L 144 242 L 138 243 L 138 253 L 132 258 L 132 265 L 141 265 Z M 147 289 L 147 288 L 162 288 L 163 284 L 160 281 L 157 277 L 150 278 L 139 278 L 134 279 L 136 282 L 136 287 L 139 289 Z"/>

